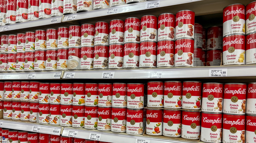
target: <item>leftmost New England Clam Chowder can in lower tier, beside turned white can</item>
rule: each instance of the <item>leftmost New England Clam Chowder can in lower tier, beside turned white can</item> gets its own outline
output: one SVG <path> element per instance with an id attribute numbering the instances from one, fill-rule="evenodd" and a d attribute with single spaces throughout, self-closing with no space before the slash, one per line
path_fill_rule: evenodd
<path id="1" fill-rule="evenodd" d="M 81 47 L 80 70 L 93 70 L 94 47 Z"/>

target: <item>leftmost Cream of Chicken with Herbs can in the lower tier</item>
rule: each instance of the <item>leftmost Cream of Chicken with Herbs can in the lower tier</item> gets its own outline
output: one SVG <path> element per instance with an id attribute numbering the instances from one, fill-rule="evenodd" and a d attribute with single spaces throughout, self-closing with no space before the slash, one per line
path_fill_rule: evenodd
<path id="1" fill-rule="evenodd" d="M 99 131 L 110 131 L 111 130 L 111 113 L 112 108 L 98 107 L 98 125 L 97 130 Z"/>

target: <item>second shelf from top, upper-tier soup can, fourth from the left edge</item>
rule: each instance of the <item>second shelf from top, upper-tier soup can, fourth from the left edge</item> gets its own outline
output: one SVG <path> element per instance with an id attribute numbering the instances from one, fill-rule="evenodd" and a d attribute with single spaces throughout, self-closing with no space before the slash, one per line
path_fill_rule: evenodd
<path id="1" fill-rule="evenodd" d="M 35 51 L 35 32 L 26 32 L 25 39 L 26 39 L 25 52 L 34 52 Z"/>

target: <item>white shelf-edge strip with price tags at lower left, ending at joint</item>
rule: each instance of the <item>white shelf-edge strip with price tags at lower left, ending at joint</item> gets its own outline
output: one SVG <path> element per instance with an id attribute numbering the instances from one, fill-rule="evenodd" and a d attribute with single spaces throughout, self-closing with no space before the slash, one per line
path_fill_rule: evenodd
<path id="1" fill-rule="evenodd" d="M 49 124 L 38 124 L 32 122 L 22 122 L 22 121 L 13 121 L 13 120 L 5 120 L 0 119 L 0 124 L 2 123 L 1 128 L 8 128 L 8 129 L 15 129 L 15 130 L 22 130 L 22 131 L 32 131 L 34 129 L 38 129 L 39 133 L 44 134 L 51 134 L 51 135 L 60 135 L 62 127 L 60 126 L 52 126 Z"/>

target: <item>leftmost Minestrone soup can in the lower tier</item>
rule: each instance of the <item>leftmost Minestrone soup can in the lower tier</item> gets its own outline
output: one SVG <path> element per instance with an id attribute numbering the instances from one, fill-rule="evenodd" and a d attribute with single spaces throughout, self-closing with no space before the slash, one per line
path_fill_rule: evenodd
<path id="1" fill-rule="evenodd" d="M 163 135 L 163 110 L 147 109 L 146 134 Z"/>

